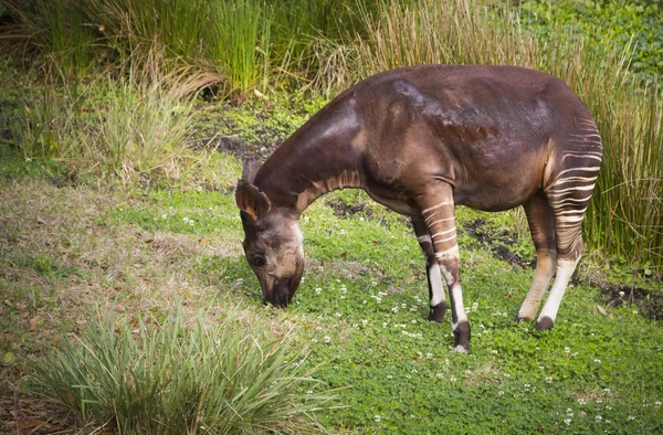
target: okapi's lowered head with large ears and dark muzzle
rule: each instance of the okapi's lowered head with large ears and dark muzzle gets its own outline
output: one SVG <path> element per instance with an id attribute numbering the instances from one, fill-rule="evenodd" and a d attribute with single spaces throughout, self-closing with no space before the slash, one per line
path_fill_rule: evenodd
<path id="1" fill-rule="evenodd" d="M 267 195 L 253 184 L 257 166 L 249 162 L 238 182 L 235 201 L 244 227 L 244 254 L 257 276 L 263 299 L 287 306 L 302 280 L 304 250 L 297 219 L 272 209 Z"/>

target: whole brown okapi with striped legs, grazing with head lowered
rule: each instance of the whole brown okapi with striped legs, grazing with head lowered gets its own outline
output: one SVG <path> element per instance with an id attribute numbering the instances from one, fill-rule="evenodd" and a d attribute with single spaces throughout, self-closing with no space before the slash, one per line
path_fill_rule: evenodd
<path id="1" fill-rule="evenodd" d="M 263 297 L 293 298 L 304 269 L 298 219 L 318 197 L 364 189 L 408 215 L 425 255 L 430 320 L 451 299 L 456 351 L 470 350 L 459 279 L 455 205 L 523 205 L 537 251 L 518 312 L 549 329 L 582 254 L 580 225 L 601 163 L 601 138 L 585 104 L 559 78 L 514 66 L 425 65 L 375 75 L 344 92 L 235 192 L 249 264 Z"/>

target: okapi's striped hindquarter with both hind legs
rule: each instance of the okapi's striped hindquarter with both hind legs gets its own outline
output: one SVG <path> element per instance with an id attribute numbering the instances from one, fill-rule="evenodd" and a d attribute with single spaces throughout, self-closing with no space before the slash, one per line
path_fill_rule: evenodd
<path id="1" fill-rule="evenodd" d="M 582 219 L 601 166 L 601 138 L 591 119 L 577 119 L 573 131 L 562 140 L 549 162 L 554 170 L 543 194 L 524 204 L 538 262 L 532 288 L 518 312 L 520 320 L 534 320 L 555 276 L 537 319 L 539 330 L 555 325 L 561 298 L 582 255 Z"/>

